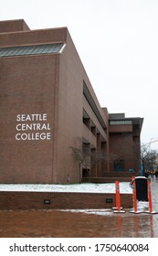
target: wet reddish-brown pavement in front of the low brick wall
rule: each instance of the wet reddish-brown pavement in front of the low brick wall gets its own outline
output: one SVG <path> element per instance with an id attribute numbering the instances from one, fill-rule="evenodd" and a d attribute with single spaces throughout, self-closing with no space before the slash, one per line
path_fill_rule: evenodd
<path id="1" fill-rule="evenodd" d="M 158 179 L 152 177 L 153 211 Z M 138 207 L 148 210 L 148 202 Z M 0 211 L 1 238 L 158 238 L 158 214 L 113 213 L 112 209 Z"/>

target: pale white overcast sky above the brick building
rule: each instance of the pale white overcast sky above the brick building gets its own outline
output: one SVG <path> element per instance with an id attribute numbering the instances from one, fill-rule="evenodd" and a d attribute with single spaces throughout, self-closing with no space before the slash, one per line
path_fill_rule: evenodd
<path id="1" fill-rule="evenodd" d="M 157 0 L 0 0 L 0 20 L 19 18 L 68 27 L 101 107 L 143 117 L 142 143 L 158 139 Z"/>

